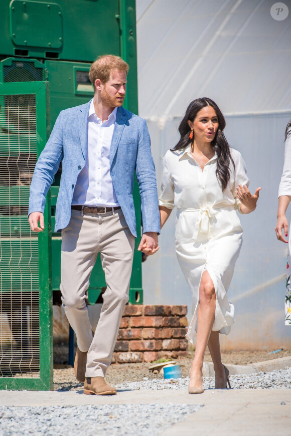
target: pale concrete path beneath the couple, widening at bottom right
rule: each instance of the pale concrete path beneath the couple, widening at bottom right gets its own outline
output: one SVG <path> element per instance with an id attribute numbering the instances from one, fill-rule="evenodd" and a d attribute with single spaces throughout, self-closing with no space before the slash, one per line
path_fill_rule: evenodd
<path id="1" fill-rule="evenodd" d="M 132 403 L 204 404 L 161 436 L 291 434 L 291 389 L 209 389 L 199 395 L 189 395 L 187 390 L 119 390 L 113 396 L 84 395 L 83 391 L 0 391 L 0 405 L 6 406 Z"/>

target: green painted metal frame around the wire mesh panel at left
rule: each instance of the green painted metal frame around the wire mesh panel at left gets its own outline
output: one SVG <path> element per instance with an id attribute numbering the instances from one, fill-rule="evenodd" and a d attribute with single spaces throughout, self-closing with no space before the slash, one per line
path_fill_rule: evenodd
<path id="1" fill-rule="evenodd" d="M 47 82 L 0 83 L 0 95 L 35 94 L 37 157 L 47 142 Z M 0 377 L 0 389 L 53 389 L 53 301 L 50 192 L 44 211 L 45 230 L 38 235 L 40 377 Z"/>

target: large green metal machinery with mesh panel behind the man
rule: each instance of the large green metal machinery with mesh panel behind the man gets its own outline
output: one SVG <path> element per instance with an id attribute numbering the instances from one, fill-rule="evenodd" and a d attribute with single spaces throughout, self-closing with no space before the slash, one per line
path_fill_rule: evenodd
<path id="1" fill-rule="evenodd" d="M 47 197 L 45 232 L 30 231 L 29 185 L 59 112 L 93 96 L 90 64 L 121 56 L 130 67 L 124 107 L 137 113 L 134 0 L 0 3 L 0 389 L 52 388 L 52 291 L 59 291 L 61 234 L 54 232 L 61 170 Z M 137 239 L 140 199 L 134 185 Z M 106 286 L 100 261 L 88 301 Z M 142 303 L 135 250 L 129 302 Z"/>

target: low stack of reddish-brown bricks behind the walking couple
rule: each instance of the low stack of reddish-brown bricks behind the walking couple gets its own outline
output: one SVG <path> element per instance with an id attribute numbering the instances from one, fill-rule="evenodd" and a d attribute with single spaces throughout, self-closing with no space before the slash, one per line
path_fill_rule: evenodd
<path id="1" fill-rule="evenodd" d="M 152 362 L 187 356 L 187 306 L 125 307 L 112 363 Z"/>

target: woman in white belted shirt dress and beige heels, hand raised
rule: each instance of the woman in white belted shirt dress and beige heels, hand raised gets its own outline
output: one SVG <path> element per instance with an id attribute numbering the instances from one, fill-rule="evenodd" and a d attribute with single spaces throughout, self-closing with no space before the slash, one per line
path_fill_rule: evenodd
<path id="1" fill-rule="evenodd" d="M 225 389 L 229 383 L 229 371 L 221 362 L 219 333 L 228 334 L 234 323 L 227 290 L 242 244 L 236 210 L 252 212 L 260 190 L 254 195 L 249 192 L 245 163 L 229 147 L 224 127 L 225 119 L 214 101 L 194 100 L 179 126 L 178 144 L 163 160 L 161 225 L 176 206 L 176 253 L 193 295 L 194 316 L 187 337 L 193 342 L 196 330 L 197 339 L 189 393 L 203 392 L 207 345 L 215 388 Z"/>

